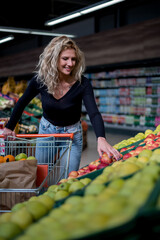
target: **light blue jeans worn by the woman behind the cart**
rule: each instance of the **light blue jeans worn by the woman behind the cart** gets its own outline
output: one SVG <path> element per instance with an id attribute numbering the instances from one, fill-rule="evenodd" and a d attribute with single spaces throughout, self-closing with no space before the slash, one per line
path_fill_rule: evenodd
<path id="1" fill-rule="evenodd" d="M 79 121 L 70 126 L 60 127 L 60 126 L 54 126 L 47 119 L 42 117 L 39 125 L 39 134 L 56 134 L 56 133 L 64 133 L 64 134 L 74 133 L 74 138 L 73 138 L 71 152 L 70 152 L 68 172 L 77 171 L 79 169 L 81 154 L 82 154 L 82 147 L 83 147 L 83 134 L 82 134 L 81 122 Z M 51 140 L 50 138 L 47 138 L 47 139 Z M 49 141 L 49 142 L 53 142 L 52 147 L 54 148 L 55 142 L 54 141 Z M 45 148 L 46 149 L 38 148 L 38 150 L 36 151 L 37 160 L 41 159 L 42 151 L 45 151 L 45 150 L 47 151 L 47 147 Z M 46 152 L 46 154 L 48 153 Z M 53 150 L 53 153 L 49 153 L 49 154 L 54 155 L 55 154 L 54 150 Z M 52 157 L 49 156 L 48 158 L 52 158 Z"/>

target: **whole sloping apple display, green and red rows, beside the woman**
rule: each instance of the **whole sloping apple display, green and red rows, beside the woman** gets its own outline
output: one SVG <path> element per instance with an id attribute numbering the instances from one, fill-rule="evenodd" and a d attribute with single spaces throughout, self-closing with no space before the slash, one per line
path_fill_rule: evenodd
<path id="1" fill-rule="evenodd" d="M 160 234 L 160 126 L 155 131 L 148 129 L 136 135 L 134 143 L 117 148 L 119 161 L 104 153 L 41 195 L 1 214 L 0 239 L 127 240 L 143 239 L 147 231 L 153 238 Z M 21 153 L 3 159 L 27 157 Z"/>

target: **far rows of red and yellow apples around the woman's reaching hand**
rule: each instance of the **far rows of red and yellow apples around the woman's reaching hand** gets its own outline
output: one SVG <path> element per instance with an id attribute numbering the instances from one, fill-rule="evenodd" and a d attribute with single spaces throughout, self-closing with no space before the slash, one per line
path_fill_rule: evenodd
<path id="1" fill-rule="evenodd" d="M 137 156 L 144 149 L 154 150 L 159 146 L 160 125 L 157 126 L 155 131 L 147 129 L 144 133 L 137 133 L 135 137 L 129 138 L 128 140 L 123 140 L 119 144 L 114 145 L 114 148 L 118 149 L 121 153 L 120 160 L 125 160 L 129 157 Z M 116 159 L 113 156 L 109 158 L 106 153 L 103 153 L 101 158 L 90 162 L 89 165 L 82 167 L 78 171 L 71 171 L 68 175 L 68 178 L 81 177 L 107 167 L 114 162 L 116 162 Z"/>

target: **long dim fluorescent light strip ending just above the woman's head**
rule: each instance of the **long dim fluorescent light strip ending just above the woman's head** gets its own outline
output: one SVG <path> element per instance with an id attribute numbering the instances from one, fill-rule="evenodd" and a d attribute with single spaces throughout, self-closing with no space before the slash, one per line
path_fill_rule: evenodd
<path id="1" fill-rule="evenodd" d="M 43 36 L 62 36 L 62 35 L 66 35 L 68 37 L 75 37 L 75 35 L 72 35 L 72 34 L 54 33 L 54 32 L 41 31 L 41 30 L 36 30 L 36 29 L 11 28 L 11 27 L 2 27 L 2 26 L 0 26 L 0 32 L 33 34 L 33 35 L 43 35 Z"/>

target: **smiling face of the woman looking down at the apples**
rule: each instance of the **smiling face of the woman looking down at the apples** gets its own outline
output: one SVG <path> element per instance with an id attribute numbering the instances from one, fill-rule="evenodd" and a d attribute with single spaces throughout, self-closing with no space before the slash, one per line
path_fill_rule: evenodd
<path id="1" fill-rule="evenodd" d="M 58 70 L 60 74 L 70 75 L 75 65 L 76 65 L 75 50 L 72 48 L 63 50 L 60 53 L 58 61 Z"/>

